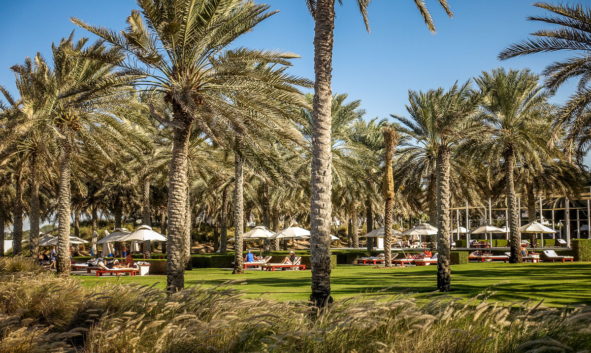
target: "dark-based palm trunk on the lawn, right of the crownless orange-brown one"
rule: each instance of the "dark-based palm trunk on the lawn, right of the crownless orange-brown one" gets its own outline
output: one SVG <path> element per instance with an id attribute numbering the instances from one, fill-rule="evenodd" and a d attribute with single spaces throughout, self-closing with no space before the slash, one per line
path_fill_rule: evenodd
<path id="1" fill-rule="evenodd" d="M 440 292 L 452 290 L 449 243 L 449 187 L 450 150 L 442 145 L 437 153 L 437 289 Z"/>

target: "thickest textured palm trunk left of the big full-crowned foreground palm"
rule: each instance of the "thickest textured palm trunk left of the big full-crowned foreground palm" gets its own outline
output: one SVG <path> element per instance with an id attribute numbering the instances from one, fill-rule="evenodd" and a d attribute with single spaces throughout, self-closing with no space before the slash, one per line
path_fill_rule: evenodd
<path id="1" fill-rule="evenodd" d="M 66 135 L 66 138 L 61 143 L 61 165 L 60 165 L 60 185 L 59 194 L 57 197 L 57 260 L 56 268 L 57 274 L 63 277 L 70 276 L 70 202 L 72 196 L 70 194 L 70 175 L 72 174 L 72 167 L 70 166 L 70 158 L 72 156 L 72 142 Z"/>

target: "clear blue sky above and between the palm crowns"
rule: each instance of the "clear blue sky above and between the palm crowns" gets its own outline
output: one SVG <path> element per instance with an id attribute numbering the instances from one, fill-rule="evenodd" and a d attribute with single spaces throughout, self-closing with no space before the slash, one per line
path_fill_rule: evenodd
<path id="1" fill-rule="evenodd" d="M 262 2 L 262 1 L 261 1 Z M 313 78 L 313 21 L 304 0 L 267 0 L 281 12 L 246 34 L 239 45 L 277 48 L 300 54 L 291 73 Z M 371 34 L 367 34 L 354 0 L 337 5 L 333 55 L 333 93 L 361 99 L 366 117 L 405 115 L 407 90 L 449 87 L 493 67 L 529 67 L 539 73 L 565 53 L 536 54 L 499 62 L 502 48 L 542 24 L 525 21 L 543 14 L 532 0 L 450 0 L 454 18 L 447 18 L 435 0 L 426 1 L 437 35 L 431 35 L 412 0 L 374 0 L 369 7 Z M 584 1 L 583 1 L 584 2 Z M 15 91 L 9 66 L 37 51 L 48 55 L 52 41 L 76 29 L 76 37 L 90 36 L 69 17 L 115 30 L 125 27 L 131 0 L 60 0 L 26 2 L 0 0 L 0 83 Z M 92 37 L 92 36 L 91 36 Z M 563 87 L 554 102 L 562 103 L 574 89 Z M 589 158 L 587 158 L 589 162 Z M 587 163 L 589 164 L 589 163 Z"/>

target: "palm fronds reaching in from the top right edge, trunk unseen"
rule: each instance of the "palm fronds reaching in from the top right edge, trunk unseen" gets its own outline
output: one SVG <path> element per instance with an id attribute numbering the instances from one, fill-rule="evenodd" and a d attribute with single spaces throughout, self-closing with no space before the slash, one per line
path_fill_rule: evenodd
<path id="1" fill-rule="evenodd" d="M 563 61 L 556 61 L 546 66 L 543 71 L 546 77 L 545 87 L 556 91 L 563 83 L 573 77 L 579 77 L 576 93 L 564 105 L 558 122 L 567 123 L 566 143 L 567 156 L 573 145 L 579 145 L 577 157 L 582 158 L 589 150 L 591 141 L 591 87 L 588 84 L 591 75 L 591 8 L 583 4 L 550 4 L 534 2 L 534 6 L 546 9 L 555 15 L 530 16 L 529 21 L 544 22 L 553 28 L 538 30 L 534 37 L 510 45 L 498 55 L 500 60 L 507 60 L 520 55 L 534 53 L 550 53 L 553 51 L 574 51 L 578 55 L 570 56 Z M 556 27 L 558 26 L 558 27 Z"/>

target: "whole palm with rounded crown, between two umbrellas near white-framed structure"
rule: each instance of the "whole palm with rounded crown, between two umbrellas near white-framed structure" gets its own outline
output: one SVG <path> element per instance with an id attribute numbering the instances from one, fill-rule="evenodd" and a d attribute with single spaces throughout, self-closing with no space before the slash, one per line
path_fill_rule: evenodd
<path id="1" fill-rule="evenodd" d="M 548 126 L 544 115 L 554 109 L 547 103 L 550 93 L 538 86 L 539 77 L 530 70 L 505 71 L 504 68 L 483 71 L 476 83 L 485 94 L 480 113 L 487 133 L 472 146 L 477 160 L 504 169 L 509 213 L 509 262 L 521 263 L 519 246 L 515 171 L 527 161 L 540 165 L 550 155 Z M 476 151 L 478 150 L 478 151 Z M 536 167 L 537 168 L 537 167 Z"/>

